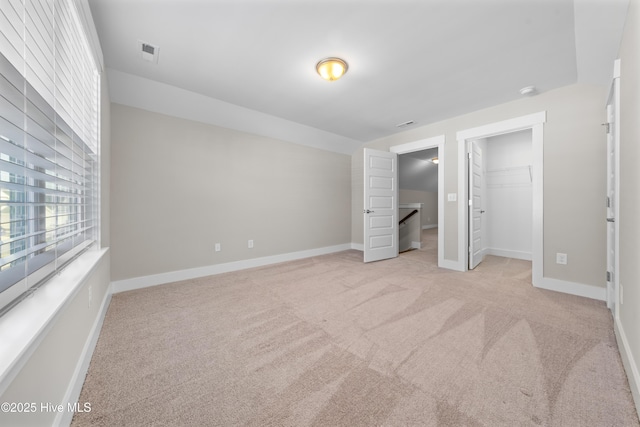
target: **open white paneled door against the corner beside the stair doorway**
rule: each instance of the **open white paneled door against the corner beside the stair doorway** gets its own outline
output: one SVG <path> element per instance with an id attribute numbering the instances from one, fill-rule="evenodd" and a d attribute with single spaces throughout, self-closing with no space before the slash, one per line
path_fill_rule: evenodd
<path id="1" fill-rule="evenodd" d="M 364 262 L 398 256 L 398 155 L 364 149 Z"/>

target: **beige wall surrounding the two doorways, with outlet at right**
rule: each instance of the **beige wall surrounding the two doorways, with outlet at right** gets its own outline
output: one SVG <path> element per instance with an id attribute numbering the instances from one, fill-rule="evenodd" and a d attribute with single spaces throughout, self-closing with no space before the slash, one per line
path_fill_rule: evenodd
<path id="1" fill-rule="evenodd" d="M 607 88 L 572 85 L 535 97 L 498 105 L 431 125 L 415 128 L 366 144 L 389 147 L 445 135 L 444 192 L 457 193 L 458 142 L 456 132 L 547 112 L 544 125 L 544 275 L 604 287 L 605 271 L 605 114 Z M 352 155 L 352 240 L 363 241 L 362 156 Z M 445 202 L 444 256 L 457 260 L 457 204 Z M 556 252 L 567 253 L 569 263 L 555 264 Z"/>

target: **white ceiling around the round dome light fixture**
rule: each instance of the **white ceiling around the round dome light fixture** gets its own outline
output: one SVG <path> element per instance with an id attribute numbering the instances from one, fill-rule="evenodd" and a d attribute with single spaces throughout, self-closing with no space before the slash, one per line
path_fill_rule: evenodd
<path id="1" fill-rule="evenodd" d="M 362 143 L 518 99 L 529 85 L 608 84 L 628 0 L 89 4 L 108 70 Z M 159 47 L 157 64 L 138 41 Z M 328 56 L 349 64 L 339 81 L 316 74 Z"/>

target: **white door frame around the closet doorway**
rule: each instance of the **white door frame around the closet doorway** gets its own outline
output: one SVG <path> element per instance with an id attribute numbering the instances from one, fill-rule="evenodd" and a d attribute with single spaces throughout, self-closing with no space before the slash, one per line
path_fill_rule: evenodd
<path id="1" fill-rule="evenodd" d="M 532 268 L 533 285 L 543 278 L 543 127 L 547 112 L 529 114 L 501 122 L 490 123 L 456 133 L 458 140 L 458 261 L 456 270 L 467 271 L 469 266 L 469 171 L 468 142 L 505 133 L 531 129 L 533 148 L 533 230 Z"/>

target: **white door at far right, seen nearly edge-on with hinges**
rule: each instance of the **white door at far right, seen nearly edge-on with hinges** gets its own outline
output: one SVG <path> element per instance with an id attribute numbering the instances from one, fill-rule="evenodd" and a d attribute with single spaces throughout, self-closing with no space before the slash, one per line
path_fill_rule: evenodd
<path id="1" fill-rule="evenodd" d="M 614 78 L 607 102 L 607 307 L 616 315 L 618 301 L 618 262 L 616 259 L 617 242 L 619 237 L 617 212 L 619 189 L 619 137 L 618 133 L 618 102 L 619 79 Z"/>

